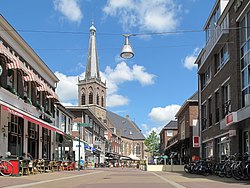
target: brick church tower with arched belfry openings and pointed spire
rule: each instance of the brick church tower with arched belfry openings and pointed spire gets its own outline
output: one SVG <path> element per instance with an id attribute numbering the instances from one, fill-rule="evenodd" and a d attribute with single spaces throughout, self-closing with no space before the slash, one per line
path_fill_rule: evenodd
<path id="1" fill-rule="evenodd" d="M 106 120 L 106 83 L 101 81 L 97 48 L 96 28 L 90 27 L 88 60 L 85 78 L 78 80 L 78 105 L 89 107 L 101 120 Z"/>

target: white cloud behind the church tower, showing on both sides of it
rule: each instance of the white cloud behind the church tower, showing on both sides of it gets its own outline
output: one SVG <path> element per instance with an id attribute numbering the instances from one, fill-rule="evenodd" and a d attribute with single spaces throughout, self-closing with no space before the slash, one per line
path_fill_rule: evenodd
<path id="1" fill-rule="evenodd" d="M 126 96 L 118 94 L 119 85 L 124 82 L 138 81 L 142 86 L 154 84 L 155 75 L 146 72 L 145 67 L 134 65 L 129 67 L 125 62 L 116 65 L 114 69 L 107 66 L 105 72 L 101 72 L 102 81 L 107 84 L 107 106 L 128 105 L 129 99 Z M 61 102 L 72 103 L 77 100 L 78 95 L 78 76 L 66 76 L 63 73 L 55 72 L 59 78 L 56 92 Z M 79 77 L 84 78 L 85 73 Z"/>

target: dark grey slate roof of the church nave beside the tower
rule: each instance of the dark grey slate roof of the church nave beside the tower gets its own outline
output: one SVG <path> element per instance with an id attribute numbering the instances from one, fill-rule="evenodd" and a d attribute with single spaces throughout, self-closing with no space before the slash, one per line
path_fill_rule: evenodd
<path id="1" fill-rule="evenodd" d="M 139 127 L 128 117 L 125 118 L 107 110 L 107 119 L 111 121 L 117 129 L 121 130 L 121 137 L 131 140 L 145 140 Z"/>

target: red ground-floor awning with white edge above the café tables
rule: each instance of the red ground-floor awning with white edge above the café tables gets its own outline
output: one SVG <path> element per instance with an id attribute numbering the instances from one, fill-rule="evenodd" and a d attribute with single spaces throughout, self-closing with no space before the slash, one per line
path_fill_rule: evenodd
<path id="1" fill-rule="evenodd" d="M 50 125 L 49 123 L 43 122 L 42 120 L 40 120 L 36 117 L 33 117 L 33 116 L 29 115 L 28 113 L 23 112 L 15 107 L 12 107 L 11 105 L 2 104 L 2 109 L 15 115 L 15 116 L 19 116 L 19 117 L 26 119 L 32 123 L 38 124 L 38 125 L 42 126 L 43 128 L 46 128 L 46 129 L 49 129 L 49 130 L 52 130 L 52 131 L 55 131 L 59 134 L 64 135 L 64 132 L 62 130 L 60 130 L 59 128 L 57 128 L 53 125 Z"/>

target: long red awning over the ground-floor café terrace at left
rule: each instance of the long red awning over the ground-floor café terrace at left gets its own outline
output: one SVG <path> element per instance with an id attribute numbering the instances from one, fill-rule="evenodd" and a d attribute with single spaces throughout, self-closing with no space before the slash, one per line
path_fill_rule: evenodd
<path id="1" fill-rule="evenodd" d="M 5 111 L 7 111 L 7 112 L 9 112 L 9 113 L 11 113 L 11 114 L 13 114 L 13 115 L 15 115 L 15 116 L 19 116 L 19 117 L 21 117 L 23 119 L 26 119 L 26 120 L 28 120 L 28 121 L 30 121 L 32 123 L 38 124 L 38 125 L 46 128 L 46 129 L 49 129 L 49 130 L 52 130 L 52 131 L 55 131 L 55 132 L 57 132 L 59 134 L 64 135 L 64 132 L 61 131 L 60 129 L 58 129 L 57 127 L 54 127 L 54 126 L 52 126 L 50 124 L 42 122 L 41 120 L 39 120 L 39 119 L 37 119 L 35 117 L 30 117 L 29 115 L 25 115 L 25 114 L 23 114 L 21 112 L 18 112 L 16 110 L 11 109 L 11 108 L 9 108 L 7 106 L 4 106 L 4 105 L 2 105 L 2 109 L 5 110 Z"/>

